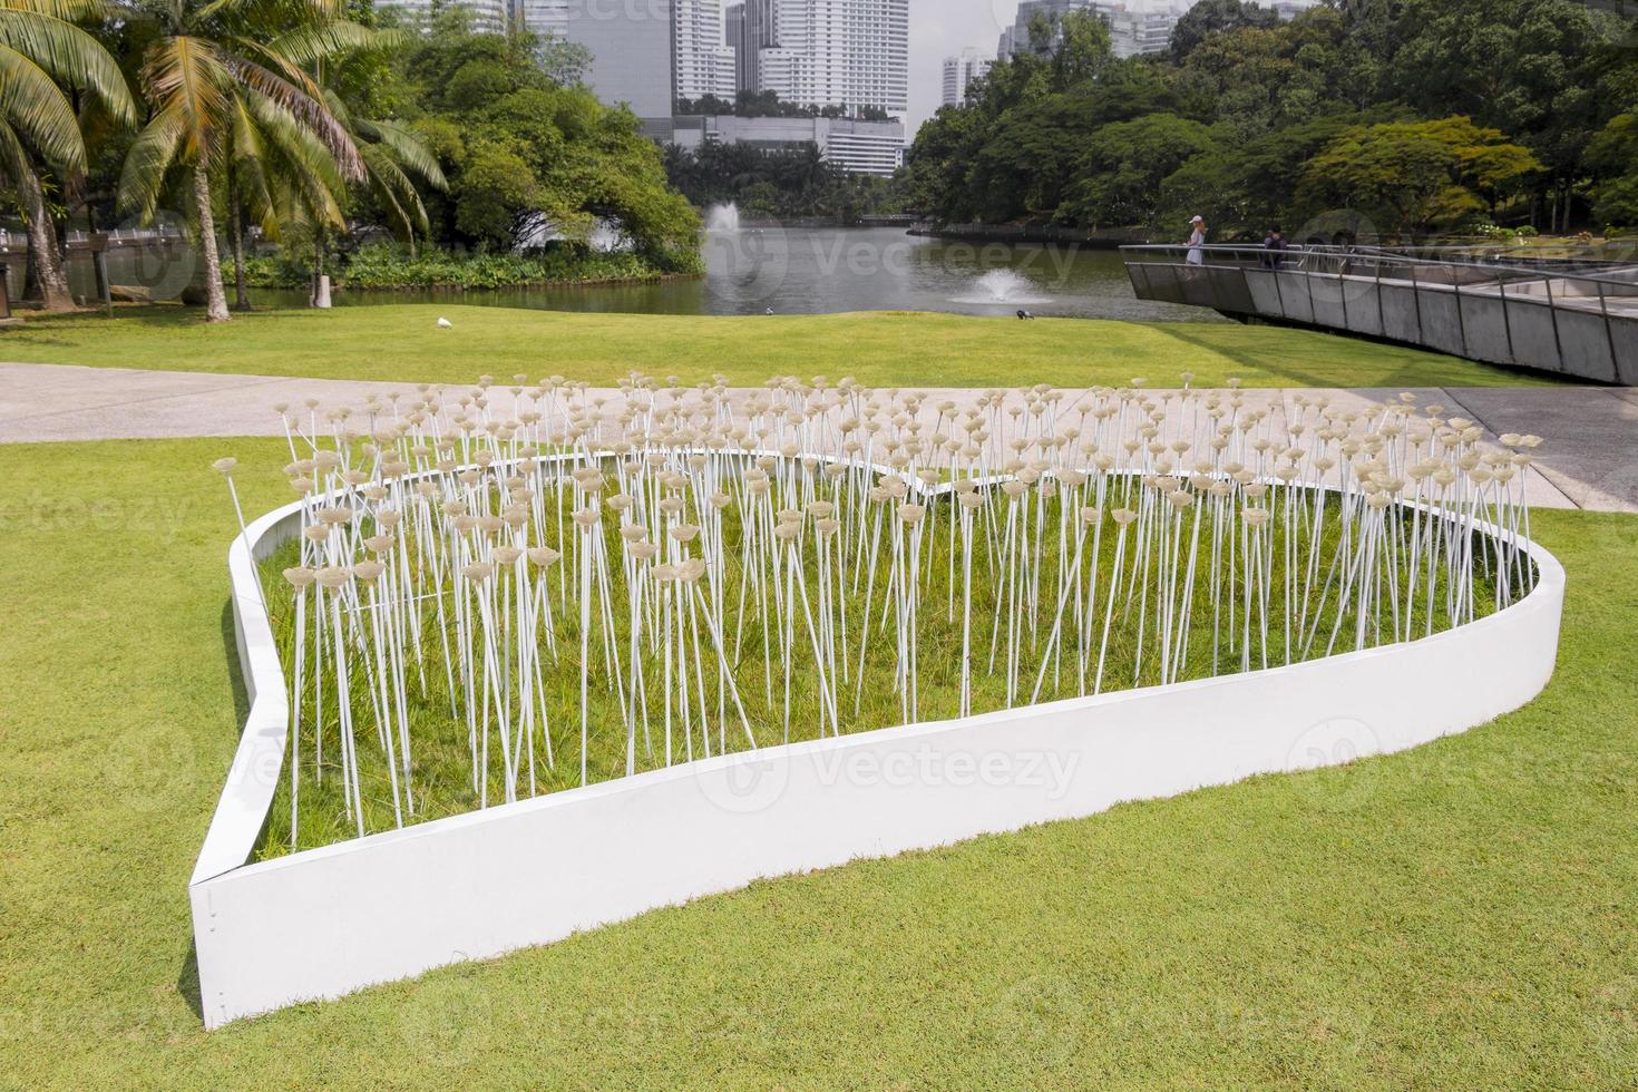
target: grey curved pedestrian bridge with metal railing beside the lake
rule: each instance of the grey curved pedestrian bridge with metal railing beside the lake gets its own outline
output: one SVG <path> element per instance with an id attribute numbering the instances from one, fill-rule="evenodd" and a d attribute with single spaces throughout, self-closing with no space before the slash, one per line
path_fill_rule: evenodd
<path id="1" fill-rule="evenodd" d="M 1120 247 L 1138 300 L 1638 385 L 1638 265 L 1540 268 L 1355 247 Z"/>

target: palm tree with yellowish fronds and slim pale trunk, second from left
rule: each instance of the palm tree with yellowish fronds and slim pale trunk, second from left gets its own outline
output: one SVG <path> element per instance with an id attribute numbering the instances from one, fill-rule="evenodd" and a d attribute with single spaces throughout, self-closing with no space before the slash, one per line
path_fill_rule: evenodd
<path id="1" fill-rule="evenodd" d="M 211 323 L 229 319 L 211 178 L 236 159 L 236 141 L 277 133 L 285 151 L 321 151 L 341 178 L 365 177 L 357 146 L 301 67 L 369 44 L 370 31 L 341 10 L 339 0 L 162 0 L 156 10 L 162 33 L 143 65 L 152 120 L 126 156 L 120 205 L 151 218 L 172 170 L 188 177 Z"/>

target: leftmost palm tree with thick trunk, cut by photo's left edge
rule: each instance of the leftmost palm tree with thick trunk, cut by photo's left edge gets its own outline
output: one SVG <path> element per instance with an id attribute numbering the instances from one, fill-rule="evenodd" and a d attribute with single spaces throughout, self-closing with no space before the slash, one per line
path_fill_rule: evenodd
<path id="1" fill-rule="evenodd" d="M 64 177 L 85 170 L 85 138 L 64 85 L 88 92 L 116 123 L 136 121 L 120 65 L 74 25 L 108 15 L 100 0 L 0 0 L 0 175 L 28 219 L 48 311 L 72 309 L 74 296 L 34 157 Z"/>

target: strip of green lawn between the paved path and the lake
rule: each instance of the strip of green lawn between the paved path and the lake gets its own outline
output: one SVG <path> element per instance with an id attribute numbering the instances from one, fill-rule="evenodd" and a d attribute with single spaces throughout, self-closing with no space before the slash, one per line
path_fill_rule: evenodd
<path id="1" fill-rule="evenodd" d="M 436 327 L 449 316 L 450 331 Z M 740 385 L 852 375 L 875 386 L 1530 386 L 1553 380 L 1419 349 L 1273 326 L 821 314 L 567 314 L 482 306 L 262 311 L 205 326 L 182 308 L 34 318 L 0 331 L 0 360 L 470 383 L 480 372 L 613 385 L 631 368 Z M 344 363 L 337 363 L 344 362 Z M 1027 377 L 1019 368 L 1027 365 Z"/>

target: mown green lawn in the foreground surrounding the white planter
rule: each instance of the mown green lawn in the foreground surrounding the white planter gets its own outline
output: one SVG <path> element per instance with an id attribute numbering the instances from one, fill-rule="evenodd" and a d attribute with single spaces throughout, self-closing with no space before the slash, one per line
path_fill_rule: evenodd
<path id="1" fill-rule="evenodd" d="M 206 1035 L 185 884 L 242 702 L 229 450 L 278 463 L 0 447 L 7 1085 L 1631 1087 L 1638 519 L 1559 512 L 1559 673 L 1481 730 Z"/>

